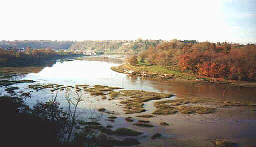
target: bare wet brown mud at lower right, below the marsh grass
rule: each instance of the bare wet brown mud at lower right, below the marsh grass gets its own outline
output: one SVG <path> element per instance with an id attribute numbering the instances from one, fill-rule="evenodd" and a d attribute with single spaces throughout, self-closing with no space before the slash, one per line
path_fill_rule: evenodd
<path id="1" fill-rule="evenodd" d="M 108 98 L 108 95 L 106 95 Z M 160 100 L 152 100 L 144 102 L 144 112 L 125 114 L 123 109 L 125 105 L 121 101 L 129 98 L 116 97 L 114 100 L 101 99 L 100 96 L 95 96 L 97 102 L 103 102 L 97 108 L 105 108 L 107 111 L 114 111 L 116 114 L 109 116 L 117 117 L 114 122 L 105 120 L 100 121 L 103 126 L 111 125 L 115 128 L 125 127 L 135 131 L 143 132 L 146 137 L 139 136 L 137 139 L 141 144 L 137 147 L 215 147 L 210 141 L 213 139 L 227 139 L 237 143 L 238 147 L 253 147 L 255 146 L 256 135 L 256 113 L 255 104 L 241 105 L 245 102 L 229 103 L 222 100 L 201 101 L 193 104 L 202 107 L 214 108 L 212 113 L 188 113 L 184 114 L 177 112 L 168 115 L 153 115 L 154 110 L 149 109 L 150 103 L 168 100 L 179 100 L 180 98 L 162 98 Z M 207 99 L 207 98 L 205 98 Z M 93 103 L 93 102 L 92 102 Z M 109 104 L 108 104 L 109 103 Z M 116 105 L 115 105 L 116 104 Z M 182 105 L 182 104 L 181 104 Z M 228 105 L 228 106 L 227 106 Z M 236 105 L 236 106 L 235 106 Z M 180 105 L 179 105 L 180 106 Z M 223 107 L 224 106 L 224 107 Z M 154 108 L 155 109 L 155 108 Z M 141 118 L 138 116 L 153 115 L 151 118 Z M 131 117 L 132 122 L 128 122 L 125 118 Z M 153 128 L 134 126 L 134 123 L 139 123 L 139 120 L 149 121 L 154 126 Z M 165 122 L 167 126 L 162 126 L 160 123 Z M 150 139 L 155 133 L 160 133 L 163 136 L 155 140 Z"/>

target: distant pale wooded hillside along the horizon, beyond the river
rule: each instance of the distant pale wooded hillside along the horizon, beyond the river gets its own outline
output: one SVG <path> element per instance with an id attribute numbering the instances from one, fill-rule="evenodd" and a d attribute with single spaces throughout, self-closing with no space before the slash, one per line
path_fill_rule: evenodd
<path id="1" fill-rule="evenodd" d="M 103 52 L 142 52 L 149 46 L 155 47 L 162 40 L 101 40 L 101 41 L 50 41 L 50 40 L 16 40 L 0 41 L 0 48 L 26 48 L 31 49 L 70 49 L 72 51 L 103 51 Z"/>

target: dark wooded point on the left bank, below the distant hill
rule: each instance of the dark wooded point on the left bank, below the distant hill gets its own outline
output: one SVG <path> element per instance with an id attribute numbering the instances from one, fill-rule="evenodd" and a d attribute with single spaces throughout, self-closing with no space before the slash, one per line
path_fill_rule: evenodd
<path id="1" fill-rule="evenodd" d="M 27 47 L 24 52 L 16 49 L 4 50 L 0 48 L 0 66 L 34 66 L 44 65 L 50 60 L 55 60 L 69 56 L 80 56 L 72 52 L 56 52 L 50 48 L 31 49 Z"/>

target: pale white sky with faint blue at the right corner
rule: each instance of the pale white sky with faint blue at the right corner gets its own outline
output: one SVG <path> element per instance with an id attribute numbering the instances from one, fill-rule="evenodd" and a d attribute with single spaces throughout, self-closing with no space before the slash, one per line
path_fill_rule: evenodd
<path id="1" fill-rule="evenodd" d="M 256 43 L 256 0 L 0 0 L 0 40 Z"/>

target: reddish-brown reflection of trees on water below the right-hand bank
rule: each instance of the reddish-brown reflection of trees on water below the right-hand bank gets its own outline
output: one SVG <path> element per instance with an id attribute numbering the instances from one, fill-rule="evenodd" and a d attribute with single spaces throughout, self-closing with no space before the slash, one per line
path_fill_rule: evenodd
<path id="1" fill-rule="evenodd" d="M 174 92 L 177 97 L 199 96 L 221 98 L 226 100 L 252 100 L 256 102 L 256 88 L 239 87 L 230 84 L 212 83 L 187 83 L 187 82 L 162 82 L 152 84 L 152 87 L 160 91 Z"/>

